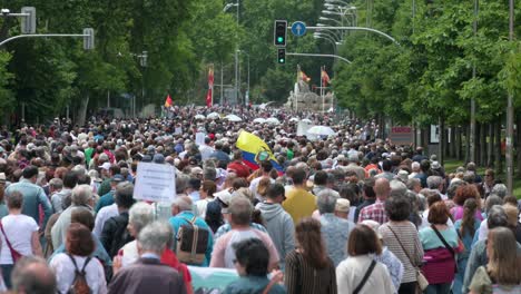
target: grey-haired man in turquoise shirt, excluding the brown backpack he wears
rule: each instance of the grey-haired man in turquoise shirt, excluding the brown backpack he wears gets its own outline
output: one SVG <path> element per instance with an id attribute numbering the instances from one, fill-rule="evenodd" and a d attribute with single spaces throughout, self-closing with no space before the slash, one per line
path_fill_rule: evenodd
<path id="1" fill-rule="evenodd" d="M 194 215 L 194 204 L 188 196 L 178 196 L 171 204 L 171 217 L 168 223 L 174 228 L 174 236 L 177 236 L 177 232 L 183 225 L 189 225 L 188 222 L 195 217 L 194 224 L 199 228 L 207 229 L 210 234 L 208 235 L 208 245 L 206 247 L 205 261 L 201 266 L 208 266 L 212 258 L 212 248 L 214 246 L 214 236 L 212 229 L 206 224 L 205 219 Z M 177 238 L 174 237 L 174 248 L 177 248 Z"/>

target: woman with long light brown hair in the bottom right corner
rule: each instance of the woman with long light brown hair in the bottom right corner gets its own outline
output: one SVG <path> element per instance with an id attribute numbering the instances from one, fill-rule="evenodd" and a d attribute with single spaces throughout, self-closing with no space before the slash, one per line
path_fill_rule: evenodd
<path id="1" fill-rule="evenodd" d="M 491 229 L 486 255 L 489 263 L 475 271 L 470 293 L 520 293 L 521 258 L 517 254 L 517 242 L 512 231 L 507 227 Z"/>

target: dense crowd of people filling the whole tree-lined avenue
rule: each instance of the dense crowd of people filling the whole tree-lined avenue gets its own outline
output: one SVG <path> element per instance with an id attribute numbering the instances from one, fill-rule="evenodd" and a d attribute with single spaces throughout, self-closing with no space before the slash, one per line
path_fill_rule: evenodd
<path id="1" fill-rule="evenodd" d="M 303 119 L 335 134 L 309 139 Z M 258 168 L 242 130 L 271 148 Z M 494 171 L 445 170 L 379 139 L 374 121 L 175 107 L 0 136 L 0 286 L 12 293 L 521 293 L 520 208 Z M 171 203 L 136 199 L 140 163 L 175 168 Z M 198 287 L 198 267 L 236 277 Z"/>

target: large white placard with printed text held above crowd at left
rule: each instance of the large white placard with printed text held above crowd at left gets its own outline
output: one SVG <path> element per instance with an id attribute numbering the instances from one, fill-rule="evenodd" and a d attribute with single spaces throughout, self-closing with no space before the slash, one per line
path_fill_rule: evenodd
<path id="1" fill-rule="evenodd" d="M 139 163 L 134 198 L 171 203 L 176 198 L 176 171 L 171 165 Z"/>

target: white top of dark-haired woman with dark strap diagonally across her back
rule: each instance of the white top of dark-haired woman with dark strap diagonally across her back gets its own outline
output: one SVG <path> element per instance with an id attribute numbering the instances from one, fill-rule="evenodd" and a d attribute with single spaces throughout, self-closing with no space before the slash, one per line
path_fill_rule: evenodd
<path id="1" fill-rule="evenodd" d="M 351 294 L 358 286 L 373 258 L 370 255 L 351 256 L 336 267 L 338 294 Z M 395 292 L 387 267 L 376 263 L 360 294 L 393 294 Z"/>

